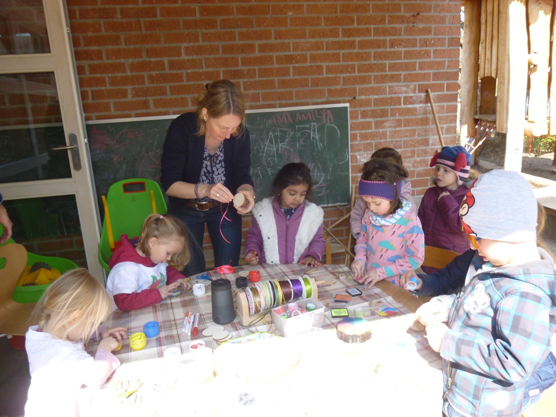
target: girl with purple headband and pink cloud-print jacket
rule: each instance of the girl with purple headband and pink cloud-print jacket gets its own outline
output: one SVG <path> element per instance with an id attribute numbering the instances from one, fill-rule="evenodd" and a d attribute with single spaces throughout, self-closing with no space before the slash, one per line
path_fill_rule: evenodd
<path id="1" fill-rule="evenodd" d="M 371 159 L 363 166 L 359 196 L 367 208 L 351 264 L 355 279 L 373 286 L 387 279 L 398 285 L 400 274 L 418 268 L 424 259 L 421 222 L 400 196 L 407 170 L 397 163 Z"/>

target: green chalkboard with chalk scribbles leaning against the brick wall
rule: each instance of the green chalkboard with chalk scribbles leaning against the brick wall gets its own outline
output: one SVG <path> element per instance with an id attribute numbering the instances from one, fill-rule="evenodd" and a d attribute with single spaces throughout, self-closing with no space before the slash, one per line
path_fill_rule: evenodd
<path id="1" fill-rule="evenodd" d="M 125 178 L 160 180 L 160 158 L 168 126 L 176 116 L 86 122 L 97 197 Z M 315 203 L 349 202 L 350 151 L 347 105 L 247 111 L 251 176 L 257 200 L 289 162 L 305 162 L 314 176 Z M 159 182 L 160 183 L 160 182 Z M 99 204 L 102 210 L 102 204 Z"/>

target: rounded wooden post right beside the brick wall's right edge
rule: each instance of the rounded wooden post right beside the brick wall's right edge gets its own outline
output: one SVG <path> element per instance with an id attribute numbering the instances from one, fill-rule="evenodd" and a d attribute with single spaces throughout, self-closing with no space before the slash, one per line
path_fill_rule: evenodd
<path id="1" fill-rule="evenodd" d="M 474 115 L 479 88 L 479 41 L 481 31 L 480 0 L 465 0 L 465 23 L 463 27 L 463 53 L 461 56 L 461 107 L 460 137 L 463 142 L 475 127 Z"/>

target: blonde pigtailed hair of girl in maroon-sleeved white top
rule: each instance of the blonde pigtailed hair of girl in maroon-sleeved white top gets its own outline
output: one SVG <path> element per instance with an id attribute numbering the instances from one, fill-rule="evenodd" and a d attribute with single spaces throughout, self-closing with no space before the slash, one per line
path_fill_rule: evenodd
<path id="1" fill-rule="evenodd" d="M 168 265 L 181 271 L 188 264 L 191 259 L 189 240 L 187 239 L 187 229 L 180 219 L 171 215 L 161 216 L 160 214 L 151 214 L 143 223 L 141 239 L 137 244 L 137 249 L 140 249 L 147 256 L 151 256 L 151 248 L 148 246 L 148 241 L 151 237 L 156 237 L 157 240 L 162 241 L 176 238 L 182 239 L 183 246 L 181 251 L 172 255 Z"/>

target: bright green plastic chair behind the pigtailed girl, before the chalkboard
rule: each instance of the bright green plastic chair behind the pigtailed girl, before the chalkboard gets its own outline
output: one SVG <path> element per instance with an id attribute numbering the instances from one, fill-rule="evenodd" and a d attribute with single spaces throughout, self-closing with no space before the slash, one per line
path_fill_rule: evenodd
<path id="1" fill-rule="evenodd" d="M 127 234 L 131 238 L 141 234 L 143 222 L 148 215 L 153 214 L 151 191 L 155 199 L 156 212 L 162 215 L 166 214 L 168 211 L 166 201 L 164 201 L 162 190 L 155 181 L 146 178 L 130 178 L 115 182 L 108 188 L 106 202 L 115 247 L 118 246 L 121 235 Z M 105 212 L 102 221 L 101 243 L 98 247 L 98 260 L 107 274 L 110 273 L 108 261 L 110 261 L 112 253 Z"/>

